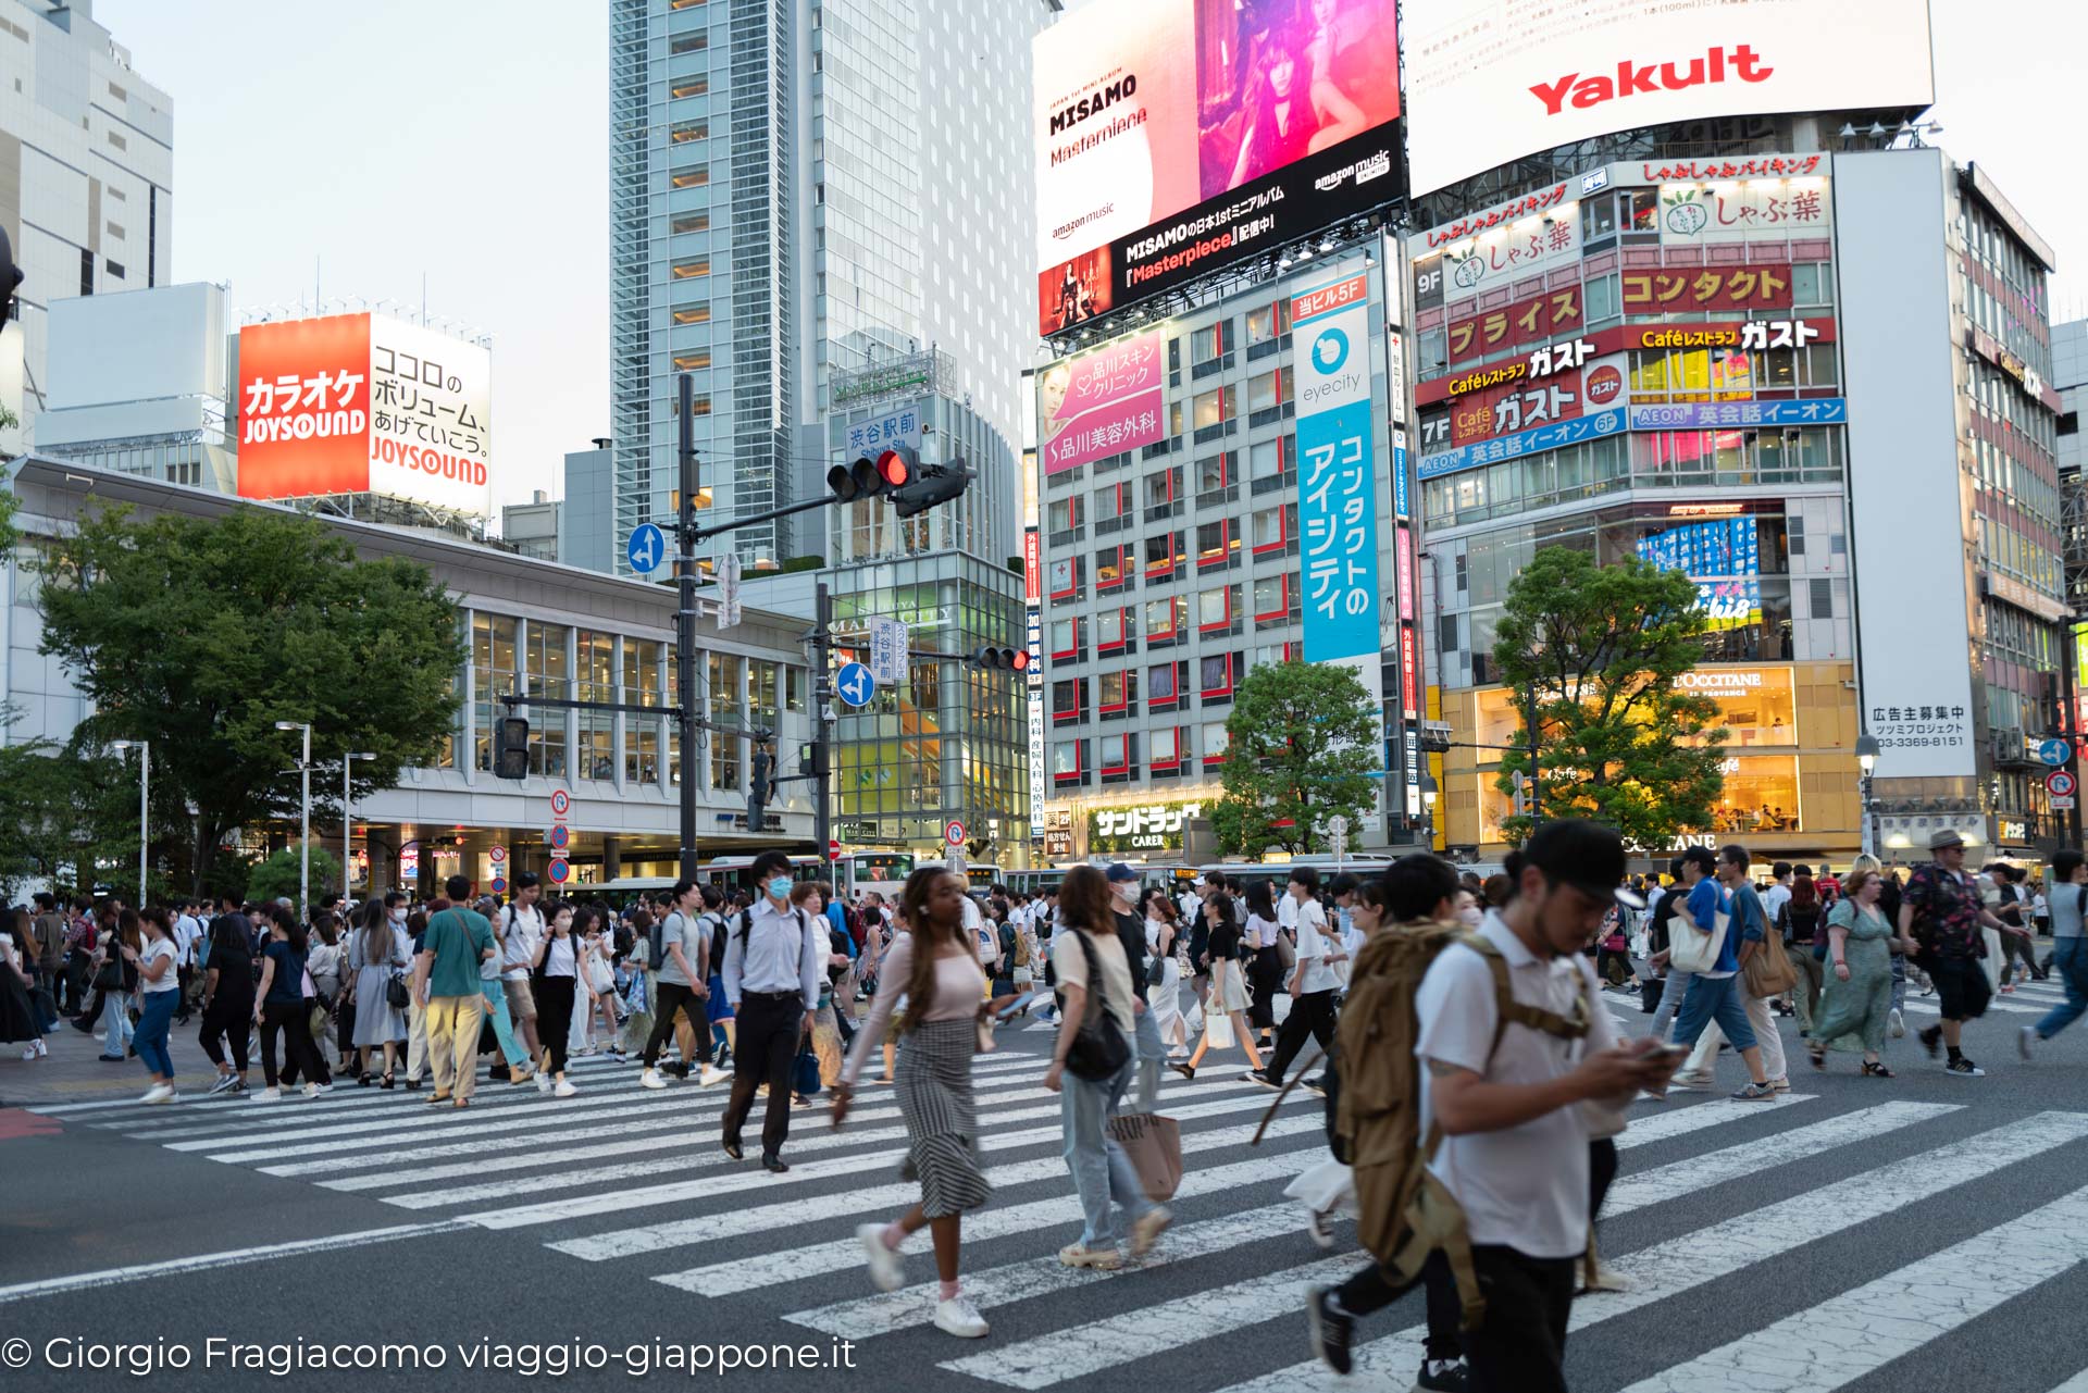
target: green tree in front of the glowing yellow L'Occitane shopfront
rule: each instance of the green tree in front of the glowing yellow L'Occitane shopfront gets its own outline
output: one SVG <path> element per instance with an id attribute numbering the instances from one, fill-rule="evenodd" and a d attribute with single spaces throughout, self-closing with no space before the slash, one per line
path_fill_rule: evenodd
<path id="1" fill-rule="evenodd" d="M 1597 566 L 1543 547 L 1508 587 L 1493 660 L 1516 693 L 1518 750 L 1501 756 L 1503 794 L 1531 769 L 1537 714 L 1539 812 L 1587 817 L 1658 850 L 1710 827 L 1725 785 L 1718 704 L 1679 689 L 1704 656 L 1695 583 L 1635 556 Z M 1501 821 L 1520 844 L 1531 819 Z"/>

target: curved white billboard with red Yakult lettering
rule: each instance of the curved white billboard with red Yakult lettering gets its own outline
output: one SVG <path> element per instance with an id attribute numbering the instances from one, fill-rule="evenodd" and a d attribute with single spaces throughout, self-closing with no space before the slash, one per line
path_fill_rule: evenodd
<path id="1" fill-rule="evenodd" d="M 1936 100 L 1927 0 L 1606 0 L 1599 10 L 1407 0 L 1414 192 L 1641 125 Z"/>

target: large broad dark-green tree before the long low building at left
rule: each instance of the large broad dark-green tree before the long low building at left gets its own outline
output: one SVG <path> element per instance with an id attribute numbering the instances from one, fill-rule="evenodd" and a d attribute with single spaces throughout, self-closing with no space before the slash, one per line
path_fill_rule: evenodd
<path id="1" fill-rule="evenodd" d="M 152 821 L 180 829 L 155 858 L 194 892 L 215 883 L 234 829 L 296 817 L 299 733 L 278 721 L 313 727 L 315 821 L 338 814 L 342 752 L 376 756 L 353 766 L 365 798 L 430 762 L 455 723 L 449 593 L 426 566 L 361 560 L 311 518 L 111 507 L 52 545 L 40 599 L 44 652 L 94 706 L 73 746 L 152 741 Z"/>

